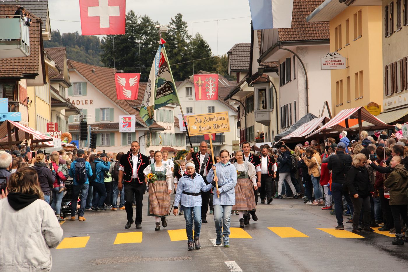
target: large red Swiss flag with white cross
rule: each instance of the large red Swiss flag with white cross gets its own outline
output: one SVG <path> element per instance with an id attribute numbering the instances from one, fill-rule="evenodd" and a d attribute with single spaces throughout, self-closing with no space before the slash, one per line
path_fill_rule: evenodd
<path id="1" fill-rule="evenodd" d="M 126 0 L 79 0 L 82 35 L 125 33 Z"/>

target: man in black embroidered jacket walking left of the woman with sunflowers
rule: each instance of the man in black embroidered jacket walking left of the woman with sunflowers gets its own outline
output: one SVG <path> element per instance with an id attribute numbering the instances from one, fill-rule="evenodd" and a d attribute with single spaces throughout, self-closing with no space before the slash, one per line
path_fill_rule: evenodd
<path id="1" fill-rule="evenodd" d="M 118 175 L 118 190 L 125 187 L 125 210 L 127 214 L 127 223 L 125 229 L 131 227 L 133 221 L 132 202 L 135 198 L 136 202 L 136 228 L 142 228 L 142 208 L 143 194 L 146 189 L 144 183 L 143 170 L 150 164 L 149 158 L 140 154 L 140 145 L 137 141 L 131 144 L 131 152 L 123 155 L 120 159 L 119 175 Z M 122 183 L 123 181 L 123 183 Z"/>

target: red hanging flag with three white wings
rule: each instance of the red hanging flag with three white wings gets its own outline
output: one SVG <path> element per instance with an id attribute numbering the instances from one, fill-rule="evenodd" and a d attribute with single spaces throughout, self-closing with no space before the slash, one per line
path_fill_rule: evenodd
<path id="1" fill-rule="evenodd" d="M 118 99 L 136 100 L 139 91 L 140 74 L 116 73 L 116 94 Z"/>

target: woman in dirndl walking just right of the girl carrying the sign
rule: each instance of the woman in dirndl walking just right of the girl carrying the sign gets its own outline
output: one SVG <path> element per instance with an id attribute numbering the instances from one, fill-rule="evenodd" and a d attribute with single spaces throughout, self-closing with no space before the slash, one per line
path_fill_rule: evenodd
<path id="1" fill-rule="evenodd" d="M 244 227 L 244 214 L 248 211 L 256 209 L 255 196 L 253 190 L 258 189 L 256 185 L 256 170 L 255 166 L 248 161 L 243 161 L 243 154 L 241 151 L 235 153 L 234 163 L 237 169 L 237 185 L 235 185 L 235 205 L 233 210 L 238 211 L 239 227 Z"/>

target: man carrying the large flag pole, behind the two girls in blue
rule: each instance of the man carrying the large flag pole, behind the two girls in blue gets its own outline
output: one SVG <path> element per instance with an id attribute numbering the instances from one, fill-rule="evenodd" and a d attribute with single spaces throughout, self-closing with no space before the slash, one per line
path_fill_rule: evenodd
<path id="1" fill-rule="evenodd" d="M 213 159 L 210 154 L 207 153 L 208 145 L 205 141 L 200 143 L 200 152 L 194 152 L 193 148 L 190 148 L 190 153 L 186 156 L 186 161 L 193 161 L 195 165 L 195 172 L 199 173 L 206 184 L 206 176 L 213 165 Z M 210 201 L 210 192 L 201 192 L 201 222 L 207 223 L 208 204 Z"/>

